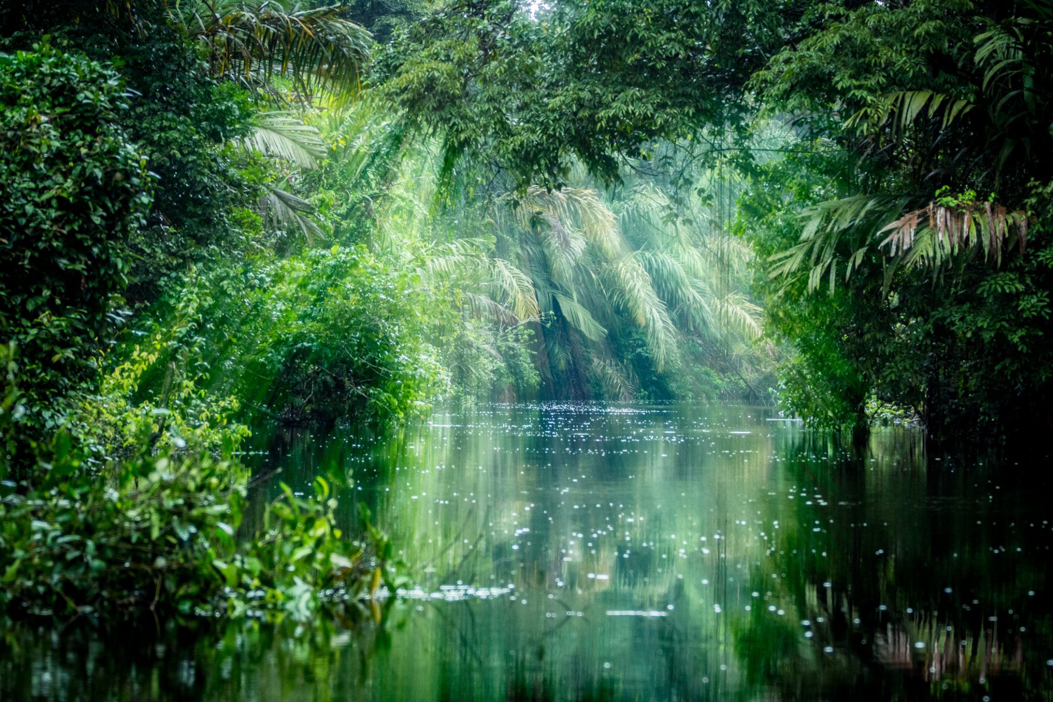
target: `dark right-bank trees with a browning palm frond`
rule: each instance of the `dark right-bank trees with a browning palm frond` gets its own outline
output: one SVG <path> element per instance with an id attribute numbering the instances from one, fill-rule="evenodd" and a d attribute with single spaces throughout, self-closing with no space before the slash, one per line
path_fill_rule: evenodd
<path id="1" fill-rule="evenodd" d="M 865 422 L 871 394 L 936 436 L 1044 423 L 1053 11 L 812 12 L 821 26 L 754 77 L 806 115 L 787 145 L 811 153 L 762 168 L 741 213 L 797 350 L 783 397 L 829 426 Z"/>

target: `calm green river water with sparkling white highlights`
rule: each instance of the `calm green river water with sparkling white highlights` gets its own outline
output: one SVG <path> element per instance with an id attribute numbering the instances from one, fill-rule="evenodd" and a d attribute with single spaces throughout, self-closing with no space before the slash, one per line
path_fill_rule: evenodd
<path id="1" fill-rule="evenodd" d="M 279 436 L 350 472 L 412 584 L 379 622 L 0 635 L 3 700 L 1053 699 L 1046 458 L 861 454 L 754 407 L 488 406 L 382 440 Z"/>

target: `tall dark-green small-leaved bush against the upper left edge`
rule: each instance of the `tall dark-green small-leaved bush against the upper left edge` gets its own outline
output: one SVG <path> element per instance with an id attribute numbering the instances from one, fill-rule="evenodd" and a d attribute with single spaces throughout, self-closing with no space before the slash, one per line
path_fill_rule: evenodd
<path id="1" fill-rule="evenodd" d="M 146 161 L 119 128 L 117 75 L 47 44 L 0 54 L 0 338 L 39 399 L 81 379 L 126 284 L 151 204 Z"/>

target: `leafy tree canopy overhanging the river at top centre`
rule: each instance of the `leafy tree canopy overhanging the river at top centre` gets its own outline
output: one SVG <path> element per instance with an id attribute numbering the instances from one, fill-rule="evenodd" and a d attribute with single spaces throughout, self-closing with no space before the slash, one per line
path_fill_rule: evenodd
<path id="1" fill-rule="evenodd" d="M 762 65 L 781 4 L 456 0 L 397 33 L 373 80 L 439 135 L 444 176 L 497 165 L 514 188 L 558 187 L 580 162 L 611 182 L 656 139 L 741 123 L 724 91 Z"/>

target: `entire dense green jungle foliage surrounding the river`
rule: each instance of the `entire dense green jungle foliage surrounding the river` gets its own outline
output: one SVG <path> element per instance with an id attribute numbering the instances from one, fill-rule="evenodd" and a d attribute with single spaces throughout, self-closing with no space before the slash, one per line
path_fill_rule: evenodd
<path id="1" fill-rule="evenodd" d="M 1049 2 L 22 0 L 0 31 L 8 613 L 393 585 L 324 480 L 239 526 L 269 423 L 1051 421 Z"/>

